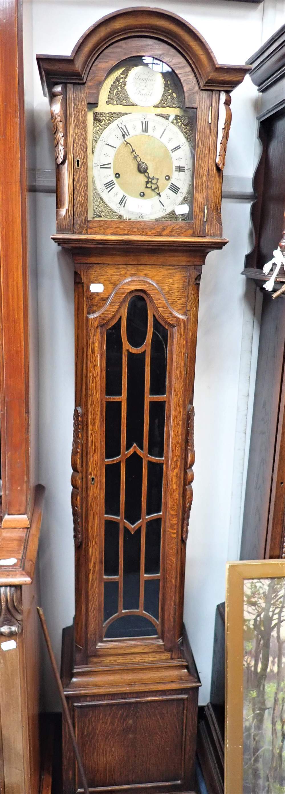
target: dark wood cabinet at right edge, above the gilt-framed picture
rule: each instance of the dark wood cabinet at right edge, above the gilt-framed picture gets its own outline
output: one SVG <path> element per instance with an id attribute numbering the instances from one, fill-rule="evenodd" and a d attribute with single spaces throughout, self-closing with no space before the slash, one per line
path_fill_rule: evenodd
<path id="1" fill-rule="evenodd" d="M 263 289 L 263 266 L 283 240 L 285 189 L 285 25 L 252 56 L 252 80 L 261 94 L 259 131 L 262 152 L 253 187 L 255 245 L 245 258 L 245 276 Z M 271 274 L 270 274 L 271 275 Z M 279 270 L 277 290 L 285 280 Z M 241 559 L 284 557 L 285 301 L 264 291 L 252 433 L 248 457 Z"/>

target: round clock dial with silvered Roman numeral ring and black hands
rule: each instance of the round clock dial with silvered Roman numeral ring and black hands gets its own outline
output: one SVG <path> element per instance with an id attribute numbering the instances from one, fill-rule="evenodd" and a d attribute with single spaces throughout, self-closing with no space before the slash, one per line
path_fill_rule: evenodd
<path id="1" fill-rule="evenodd" d="M 130 113 L 104 129 L 94 148 L 98 193 L 124 218 L 153 220 L 183 205 L 192 179 L 191 147 L 181 130 L 156 114 Z"/>

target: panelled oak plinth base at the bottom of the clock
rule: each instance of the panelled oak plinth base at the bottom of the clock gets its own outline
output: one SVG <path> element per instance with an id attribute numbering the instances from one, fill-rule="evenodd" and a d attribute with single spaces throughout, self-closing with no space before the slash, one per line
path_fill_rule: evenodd
<path id="1" fill-rule="evenodd" d="M 92 792 L 193 792 L 198 673 L 184 634 L 179 658 L 163 649 L 73 667 L 64 629 L 62 680 Z M 143 658 L 144 657 L 144 658 Z M 153 657 L 153 659 L 152 659 Z M 82 790 L 63 723 L 64 794 Z"/>

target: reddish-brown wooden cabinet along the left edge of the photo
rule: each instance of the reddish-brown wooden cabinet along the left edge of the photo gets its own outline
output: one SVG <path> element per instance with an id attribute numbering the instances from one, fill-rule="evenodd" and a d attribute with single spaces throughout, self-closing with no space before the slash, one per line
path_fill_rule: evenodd
<path id="1" fill-rule="evenodd" d="M 0 790 L 40 787 L 37 282 L 29 272 L 21 3 L 0 8 Z"/>

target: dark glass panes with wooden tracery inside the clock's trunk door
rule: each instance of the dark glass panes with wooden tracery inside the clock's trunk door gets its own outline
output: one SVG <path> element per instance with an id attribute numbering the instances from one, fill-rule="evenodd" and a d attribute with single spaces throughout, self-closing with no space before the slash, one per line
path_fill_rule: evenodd
<path id="1" fill-rule="evenodd" d="M 132 295 L 125 313 L 106 330 L 105 515 L 120 519 L 105 518 L 104 622 L 112 618 L 106 639 L 157 636 L 167 367 L 168 329 L 153 314 L 148 299 Z M 128 454 L 133 445 L 139 453 Z M 114 458 L 116 463 L 107 462 Z"/>

